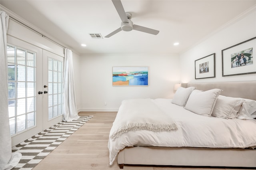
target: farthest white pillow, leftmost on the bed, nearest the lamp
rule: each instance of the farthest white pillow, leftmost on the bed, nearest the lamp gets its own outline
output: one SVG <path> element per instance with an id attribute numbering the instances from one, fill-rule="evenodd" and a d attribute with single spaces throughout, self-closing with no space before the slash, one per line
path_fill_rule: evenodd
<path id="1" fill-rule="evenodd" d="M 176 93 L 174 94 L 172 103 L 184 107 L 188 101 L 189 95 L 192 93 L 194 89 L 196 89 L 196 87 L 179 87 Z"/>

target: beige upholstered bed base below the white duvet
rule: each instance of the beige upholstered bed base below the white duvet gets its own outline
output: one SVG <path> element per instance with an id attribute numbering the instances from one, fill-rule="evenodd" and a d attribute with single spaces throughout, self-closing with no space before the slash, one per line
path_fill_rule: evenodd
<path id="1" fill-rule="evenodd" d="M 126 147 L 118 164 L 158 166 L 211 166 L 256 169 L 256 150 L 236 148 Z"/>

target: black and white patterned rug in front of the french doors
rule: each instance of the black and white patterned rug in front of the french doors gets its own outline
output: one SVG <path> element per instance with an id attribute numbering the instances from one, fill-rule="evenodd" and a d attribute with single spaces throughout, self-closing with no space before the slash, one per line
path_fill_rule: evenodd
<path id="1" fill-rule="evenodd" d="M 32 170 L 52 150 L 68 136 L 88 122 L 93 116 L 81 116 L 72 122 L 60 122 L 31 138 L 12 147 L 12 152 L 20 152 L 22 158 L 12 170 Z"/>

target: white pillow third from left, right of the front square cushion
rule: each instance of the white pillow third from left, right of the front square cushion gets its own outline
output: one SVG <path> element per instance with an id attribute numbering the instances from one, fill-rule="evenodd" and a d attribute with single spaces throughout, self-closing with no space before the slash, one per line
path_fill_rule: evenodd
<path id="1" fill-rule="evenodd" d="M 245 102 L 242 98 L 226 97 L 219 95 L 214 106 L 212 116 L 223 119 L 234 119 Z"/>

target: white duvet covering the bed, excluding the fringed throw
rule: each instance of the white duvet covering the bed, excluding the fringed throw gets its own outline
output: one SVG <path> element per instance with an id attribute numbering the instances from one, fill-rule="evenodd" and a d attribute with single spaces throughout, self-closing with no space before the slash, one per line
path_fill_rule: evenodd
<path id="1" fill-rule="evenodd" d="M 109 138 L 110 165 L 120 150 L 137 143 L 166 147 L 254 148 L 256 146 L 256 119 L 205 117 L 172 104 L 171 99 L 151 99 L 151 101 L 174 119 L 178 130 L 169 132 L 137 130 L 124 133 L 114 140 Z M 119 111 L 118 115 L 122 113 Z M 112 132 L 113 129 L 110 130 L 110 136 Z"/>

